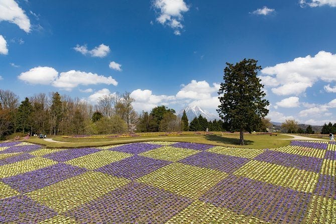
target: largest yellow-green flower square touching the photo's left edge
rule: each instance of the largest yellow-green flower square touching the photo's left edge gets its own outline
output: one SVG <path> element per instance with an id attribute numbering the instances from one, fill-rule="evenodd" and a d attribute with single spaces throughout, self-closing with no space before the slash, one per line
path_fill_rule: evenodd
<path id="1" fill-rule="evenodd" d="M 0 166 L 0 178 L 15 176 L 21 173 L 41 169 L 47 166 L 56 164 L 57 162 L 42 157 L 35 157 L 32 159 L 10 163 Z"/>

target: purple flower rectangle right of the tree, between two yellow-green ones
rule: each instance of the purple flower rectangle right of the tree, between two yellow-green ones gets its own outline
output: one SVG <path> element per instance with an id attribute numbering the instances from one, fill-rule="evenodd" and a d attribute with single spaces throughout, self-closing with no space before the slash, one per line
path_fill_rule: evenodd
<path id="1" fill-rule="evenodd" d="M 283 152 L 276 152 L 266 150 L 262 154 L 259 154 L 254 160 L 265 161 L 268 163 L 274 163 L 282 166 L 294 167 L 297 169 L 303 169 L 318 173 L 321 170 L 323 159 L 300 156 L 294 154 L 288 154 Z"/>

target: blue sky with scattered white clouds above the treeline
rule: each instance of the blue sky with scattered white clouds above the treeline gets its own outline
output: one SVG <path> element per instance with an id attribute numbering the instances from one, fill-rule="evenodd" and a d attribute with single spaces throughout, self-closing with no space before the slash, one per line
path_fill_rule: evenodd
<path id="1" fill-rule="evenodd" d="M 335 0 L 0 0 L 0 88 L 215 113 L 225 63 L 254 58 L 272 121 L 336 123 L 335 28 Z"/>

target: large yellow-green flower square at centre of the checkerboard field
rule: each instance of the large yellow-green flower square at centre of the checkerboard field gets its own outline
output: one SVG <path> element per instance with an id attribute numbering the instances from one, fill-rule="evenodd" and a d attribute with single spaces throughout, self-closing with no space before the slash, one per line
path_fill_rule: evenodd
<path id="1" fill-rule="evenodd" d="M 181 196 L 195 198 L 217 184 L 228 174 L 182 163 L 172 163 L 137 181 L 147 183 Z"/>

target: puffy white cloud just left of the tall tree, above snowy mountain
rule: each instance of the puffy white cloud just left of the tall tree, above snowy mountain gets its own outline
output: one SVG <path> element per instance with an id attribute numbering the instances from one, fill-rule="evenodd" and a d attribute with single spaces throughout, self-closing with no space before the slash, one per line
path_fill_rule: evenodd
<path id="1" fill-rule="evenodd" d="M 209 99 L 211 93 L 217 92 L 219 87 L 220 84 L 218 83 L 213 83 L 213 86 L 210 86 L 206 81 L 191 80 L 189 84 L 182 85 L 182 89 L 177 92 L 176 98 Z"/>

